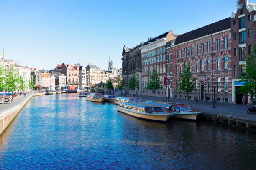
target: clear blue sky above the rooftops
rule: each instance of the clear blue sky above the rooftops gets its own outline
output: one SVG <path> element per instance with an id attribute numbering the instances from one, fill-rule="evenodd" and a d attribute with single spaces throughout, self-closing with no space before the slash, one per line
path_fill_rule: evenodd
<path id="1" fill-rule="evenodd" d="M 168 30 L 182 34 L 231 16 L 236 0 L 1 2 L 0 50 L 38 69 L 95 62 L 121 68 L 123 45 L 135 47 Z M 0 51 L 1 52 L 1 51 Z"/>

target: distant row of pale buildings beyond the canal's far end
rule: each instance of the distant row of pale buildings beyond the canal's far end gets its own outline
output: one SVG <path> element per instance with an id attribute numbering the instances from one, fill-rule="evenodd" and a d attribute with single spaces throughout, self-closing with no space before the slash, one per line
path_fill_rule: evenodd
<path id="1" fill-rule="evenodd" d="M 35 82 L 35 90 L 62 90 L 62 89 L 87 89 L 94 87 L 96 84 L 105 83 L 109 78 L 113 82 L 113 86 L 117 87 L 118 76 L 122 78 L 122 69 L 115 69 L 113 61 L 108 62 L 108 69 L 101 70 L 94 64 L 58 64 L 54 69 L 38 70 L 37 68 L 29 68 L 18 65 L 13 60 L 3 60 L 0 58 L 5 70 L 10 71 L 13 67 L 14 72 L 18 72 L 19 77 L 23 77 L 25 81 L 25 90 L 29 90 L 29 82 L 31 76 Z"/>

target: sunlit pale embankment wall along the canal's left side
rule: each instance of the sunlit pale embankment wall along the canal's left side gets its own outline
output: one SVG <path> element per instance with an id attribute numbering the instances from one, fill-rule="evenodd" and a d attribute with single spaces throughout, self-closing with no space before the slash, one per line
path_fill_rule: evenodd
<path id="1" fill-rule="evenodd" d="M 61 92 L 51 92 L 51 94 L 61 94 Z M 21 102 L 16 103 L 12 107 L 1 110 L 0 112 L 0 135 L 5 131 L 6 128 L 10 125 L 10 123 L 15 119 L 18 113 L 23 109 L 23 107 L 27 104 L 27 102 L 34 96 L 45 95 L 45 93 L 34 93 L 27 95 L 27 97 L 23 97 Z M 16 100 L 16 99 L 15 99 Z M 8 104 L 6 104 L 8 105 Z M 1 107 L 0 107 L 1 109 Z"/>

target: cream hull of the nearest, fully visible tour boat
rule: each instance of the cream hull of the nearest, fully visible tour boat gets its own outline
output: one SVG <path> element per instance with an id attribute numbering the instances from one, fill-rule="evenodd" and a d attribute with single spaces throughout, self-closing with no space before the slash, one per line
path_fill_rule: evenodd
<path id="1" fill-rule="evenodd" d="M 130 115 L 133 117 L 138 117 L 146 120 L 162 121 L 162 122 L 167 121 L 171 116 L 171 115 L 141 114 L 141 113 L 131 112 L 128 110 L 123 110 L 120 107 L 117 107 L 117 110 L 125 113 L 126 115 Z"/>

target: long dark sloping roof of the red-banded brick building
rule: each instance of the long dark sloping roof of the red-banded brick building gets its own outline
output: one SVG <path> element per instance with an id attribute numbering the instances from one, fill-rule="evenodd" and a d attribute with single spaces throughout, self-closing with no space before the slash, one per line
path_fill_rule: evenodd
<path id="1" fill-rule="evenodd" d="M 230 17 L 177 36 L 174 45 L 231 28 Z"/>

